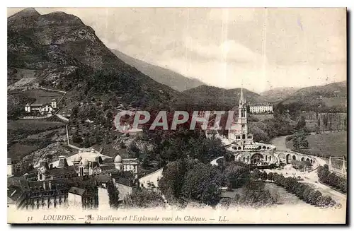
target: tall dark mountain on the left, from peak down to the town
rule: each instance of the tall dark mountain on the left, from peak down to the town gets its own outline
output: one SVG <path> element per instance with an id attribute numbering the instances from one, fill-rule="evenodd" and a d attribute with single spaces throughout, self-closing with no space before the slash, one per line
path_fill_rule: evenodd
<path id="1" fill-rule="evenodd" d="M 38 87 L 67 92 L 58 107 L 59 113 L 71 115 L 71 142 L 98 149 L 120 143 L 112 122 L 117 107 L 161 109 L 181 94 L 118 59 L 76 16 L 41 15 L 26 8 L 8 17 L 7 30 L 8 157 L 20 160 L 21 172 L 29 166 L 23 162 L 28 160 L 25 156 L 39 157 L 47 153 L 45 148 L 53 158 L 67 155 L 67 150 L 57 148 L 67 140 L 65 124 L 58 126 L 56 117 L 16 120 L 26 103 L 54 97 Z"/>

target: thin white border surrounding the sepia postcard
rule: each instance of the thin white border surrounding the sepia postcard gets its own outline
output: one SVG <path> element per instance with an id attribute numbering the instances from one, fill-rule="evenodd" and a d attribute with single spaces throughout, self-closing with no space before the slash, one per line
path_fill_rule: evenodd
<path id="1" fill-rule="evenodd" d="M 180 1 L 172 1 L 172 0 L 164 0 L 164 1 L 149 1 L 149 0 L 130 0 L 130 1 L 108 1 L 108 0 L 100 0 L 100 1 L 74 1 L 74 0 L 61 0 L 61 1 L 44 1 L 44 0 L 32 0 L 32 1 L 26 1 L 26 0 L 21 0 L 21 1 L 1 1 L 1 6 L 4 4 L 4 7 L 1 7 L 1 13 L 4 13 L 4 15 L 1 17 L 1 31 L 4 33 L 2 34 L 1 38 L 1 87 L 3 90 L 0 91 L 1 94 L 1 109 L 3 113 L 1 113 L 1 137 L 0 137 L 0 143 L 1 143 L 1 150 L 2 150 L 2 155 L 3 155 L 3 163 L 4 167 L 1 168 L 1 170 L 4 170 L 2 172 L 1 176 L 5 176 L 5 155 L 7 153 L 6 146 L 7 146 L 7 137 L 6 137 L 6 105 L 7 105 L 7 100 L 6 100 L 6 57 L 7 57 L 7 47 L 6 47 L 6 7 L 108 7 L 108 6 L 115 6 L 115 7 L 348 7 L 348 10 L 353 10 L 353 2 L 350 0 L 336 0 L 336 1 L 309 1 L 309 0 L 297 0 L 297 1 L 285 1 L 285 0 L 273 0 L 273 1 L 261 1 L 261 0 L 248 0 L 248 1 L 234 1 L 234 0 L 218 0 L 218 1 L 210 1 L 210 0 L 205 0 L 205 1 L 198 1 L 198 0 L 180 0 Z M 353 18 L 353 12 L 351 14 L 351 18 Z M 352 20 L 351 20 L 352 21 Z M 353 23 L 350 23 L 350 31 L 353 30 Z M 351 39 L 353 40 L 353 38 Z M 352 49 L 350 51 L 348 50 L 348 54 L 352 54 Z M 353 65 L 353 59 L 350 60 L 350 66 Z M 348 81 L 350 81 L 350 76 L 348 76 Z M 350 86 L 353 86 L 353 80 L 350 81 Z M 350 99 L 353 98 L 353 93 L 350 93 Z M 351 108 L 353 106 L 352 100 L 350 100 L 350 105 L 349 107 Z M 352 123 L 352 119 L 350 118 L 349 124 Z M 349 128 L 349 131 L 351 130 L 351 127 Z M 350 143 L 354 143 L 354 138 L 350 138 Z M 353 148 L 348 150 L 349 153 L 353 153 Z M 350 157 L 350 166 L 353 166 L 353 157 Z M 350 168 L 351 169 L 351 168 Z M 350 172 L 352 172 L 350 170 Z M 353 188 L 353 181 L 351 179 L 351 175 L 348 176 L 348 179 L 350 180 L 350 186 Z M 6 185 L 6 178 L 1 179 L 3 182 L 2 185 Z M 5 187 L 4 187 L 5 188 Z M 350 189 L 352 189 L 350 188 Z M 2 189 L 0 191 L 1 194 L 4 194 L 1 196 L 1 227 L 4 227 L 5 230 L 8 230 L 11 228 L 10 225 L 6 225 L 6 193 L 5 189 Z M 350 206 L 352 204 L 350 203 Z M 350 213 L 350 218 L 352 217 L 353 213 Z M 18 229 L 47 229 L 47 228 L 55 228 L 54 226 L 52 227 L 17 227 Z M 72 227 L 64 227 L 65 229 L 67 228 L 72 228 Z M 82 229 L 84 227 L 74 227 L 75 230 Z M 85 227 L 87 228 L 87 227 Z M 100 229 L 102 227 L 93 227 L 94 229 Z M 120 227 L 120 226 L 112 226 L 110 228 L 119 228 L 119 229 L 125 229 L 126 227 Z M 130 230 L 137 230 L 142 227 L 129 227 Z M 150 229 L 156 229 L 156 227 L 149 227 Z M 162 229 L 166 229 L 169 227 L 160 227 Z M 187 227 L 179 227 L 180 229 L 185 229 Z M 189 227 L 188 227 L 189 228 Z M 193 228 L 202 228 L 205 229 L 205 227 L 198 227 L 195 226 Z M 212 227 L 213 229 L 217 229 L 219 227 Z M 245 227 L 227 227 L 231 229 L 244 229 Z M 256 228 L 256 227 L 248 227 L 248 228 Z M 273 229 L 274 227 L 268 227 Z M 278 227 L 278 228 L 284 228 L 284 227 Z M 286 227 L 287 228 L 287 227 Z M 313 230 L 313 229 L 321 229 L 322 227 L 297 227 L 301 228 L 301 230 Z M 333 229 L 337 229 L 339 227 L 332 227 Z"/>

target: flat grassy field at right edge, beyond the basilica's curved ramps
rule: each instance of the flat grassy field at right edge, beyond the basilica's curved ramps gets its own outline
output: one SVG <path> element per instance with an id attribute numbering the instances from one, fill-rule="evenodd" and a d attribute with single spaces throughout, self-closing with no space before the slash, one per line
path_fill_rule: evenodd
<path id="1" fill-rule="evenodd" d="M 347 156 L 347 131 L 331 132 L 328 134 L 314 134 L 307 136 L 309 149 L 314 155 L 324 157 Z M 292 142 L 286 143 L 287 148 L 292 148 Z"/>

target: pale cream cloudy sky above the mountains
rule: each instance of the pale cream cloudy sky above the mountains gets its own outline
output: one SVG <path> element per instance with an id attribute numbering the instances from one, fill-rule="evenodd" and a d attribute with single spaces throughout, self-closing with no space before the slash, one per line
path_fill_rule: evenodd
<path id="1" fill-rule="evenodd" d="M 35 9 L 78 16 L 110 49 L 220 88 L 346 80 L 345 8 Z"/>

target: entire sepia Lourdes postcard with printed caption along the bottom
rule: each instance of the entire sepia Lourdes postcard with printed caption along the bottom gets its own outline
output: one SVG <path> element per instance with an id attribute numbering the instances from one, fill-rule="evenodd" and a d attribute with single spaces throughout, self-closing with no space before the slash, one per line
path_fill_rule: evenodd
<path id="1" fill-rule="evenodd" d="M 346 8 L 8 8 L 8 223 L 344 224 Z"/>

